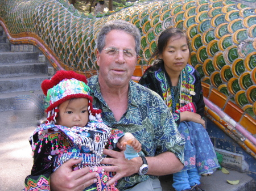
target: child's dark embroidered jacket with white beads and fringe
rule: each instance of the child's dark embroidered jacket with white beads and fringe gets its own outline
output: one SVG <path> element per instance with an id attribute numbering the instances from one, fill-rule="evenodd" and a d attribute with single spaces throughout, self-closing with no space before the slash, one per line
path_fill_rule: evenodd
<path id="1" fill-rule="evenodd" d="M 31 175 L 26 177 L 24 190 L 50 190 L 49 176 L 61 164 L 71 158 L 82 158 L 82 162 L 73 170 L 92 167 L 97 171 L 97 182 L 84 190 L 118 190 L 115 185 L 106 186 L 106 181 L 114 175 L 99 167 L 106 157 L 103 148 L 109 143 L 109 148 L 116 148 L 118 139 L 124 134 L 117 129 L 110 129 L 101 121 L 88 122 L 83 127 L 67 128 L 61 125 L 42 124 L 33 132 L 30 138 L 34 152 L 34 165 Z"/>

